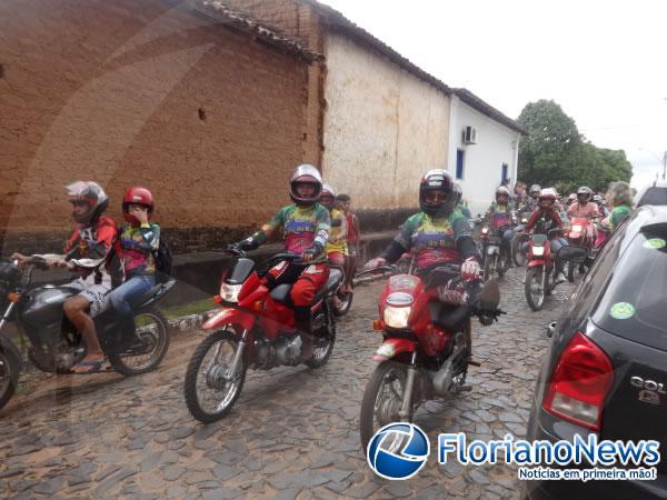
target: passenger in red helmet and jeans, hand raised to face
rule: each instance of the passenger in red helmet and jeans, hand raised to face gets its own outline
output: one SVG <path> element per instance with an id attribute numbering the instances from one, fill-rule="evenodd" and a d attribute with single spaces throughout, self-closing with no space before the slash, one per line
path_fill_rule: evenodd
<path id="1" fill-rule="evenodd" d="M 129 188 L 122 198 L 121 228 L 116 251 L 123 264 L 125 282 L 109 293 L 109 303 L 119 314 L 123 329 L 135 329 L 132 306 L 156 284 L 156 252 L 160 247 L 160 227 L 151 222 L 152 193 L 140 187 Z"/>

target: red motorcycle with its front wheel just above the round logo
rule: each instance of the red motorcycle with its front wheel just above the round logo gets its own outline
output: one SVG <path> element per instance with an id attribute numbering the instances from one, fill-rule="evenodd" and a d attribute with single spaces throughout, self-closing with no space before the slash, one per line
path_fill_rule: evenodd
<path id="1" fill-rule="evenodd" d="M 365 272 L 384 271 L 399 272 L 395 266 Z M 461 281 L 458 264 L 439 264 L 420 274 L 425 278 L 392 276 L 380 297 L 380 319 L 374 321 L 374 330 L 382 332 L 384 342 L 375 352 L 379 364 L 361 401 L 364 450 L 384 426 L 412 421 L 422 402 L 470 390 L 465 383 L 468 366 L 478 366 L 471 360 L 470 318 L 478 316 L 490 324 L 502 313 L 497 309 L 500 293 L 495 281 L 479 291 L 479 282 Z M 439 300 L 441 284 L 447 303 Z"/>

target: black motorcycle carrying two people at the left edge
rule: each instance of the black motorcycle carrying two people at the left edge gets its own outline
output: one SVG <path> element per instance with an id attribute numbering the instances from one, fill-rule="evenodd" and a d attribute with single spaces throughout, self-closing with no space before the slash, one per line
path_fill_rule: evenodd
<path id="1" fill-rule="evenodd" d="M 44 284 L 30 289 L 36 269 L 47 269 L 43 256 L 32 256 L 22 270 L 18 261 L 0 263 L 0 333 L 14 321 L 28 339 L 28 359 L 41 371 L 71 373 L 70 369 L 86 357 L 81 333 L 64 316 L 63 303 L 80 292 L 64 286 Z M 169 279 L 156 284 L 132 308 L 133 329 L 122 328 L 115 311 L 107 309 L 93 318 L 100 346 L 111 368 L 125 376 L 153 370 L 169 349 L 168 322 L 157 309 L 175 286 Z M 0 336 L 0 409 L 13 394 L 23 358 L 13 342 Z"/>

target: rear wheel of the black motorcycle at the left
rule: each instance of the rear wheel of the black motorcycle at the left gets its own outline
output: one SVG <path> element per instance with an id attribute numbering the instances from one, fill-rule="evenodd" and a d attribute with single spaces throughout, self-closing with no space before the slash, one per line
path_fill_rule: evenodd
<path id="1" fill-rule="evenodd" d="M 169 350 L 169 323 L 160 311 L 140 312 L 135 317 L 135 322 L 136 334 L 142 344 L 108 354 L 111 368 L 126 377 L 155 370 Z M 148 352 L 145 352 L 147 349 Z"/>

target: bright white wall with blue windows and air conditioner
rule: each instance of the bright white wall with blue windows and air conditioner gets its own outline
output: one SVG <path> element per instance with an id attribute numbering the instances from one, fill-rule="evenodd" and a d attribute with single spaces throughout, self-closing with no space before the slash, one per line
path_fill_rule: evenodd
<path id="1" fill-rule="evenodd" d="M 510 191 L 517 180 L 517 162 L 519 153 L 519 133 L 492 120 L 486 114 L 451 97 L 449 118 L 449 157 L 448 170 L 456 178 L 456 151 L 465 151 L 464 179 L 457 180 L 464 190 L 464 199 L 472 216 L 482 213 L 494 200 L 500 186 L 502 163 L 508 166 L 511 179 Z M 461 131 L 471 126 L 477 129 L 477 144 L 464 144 Z"/>

